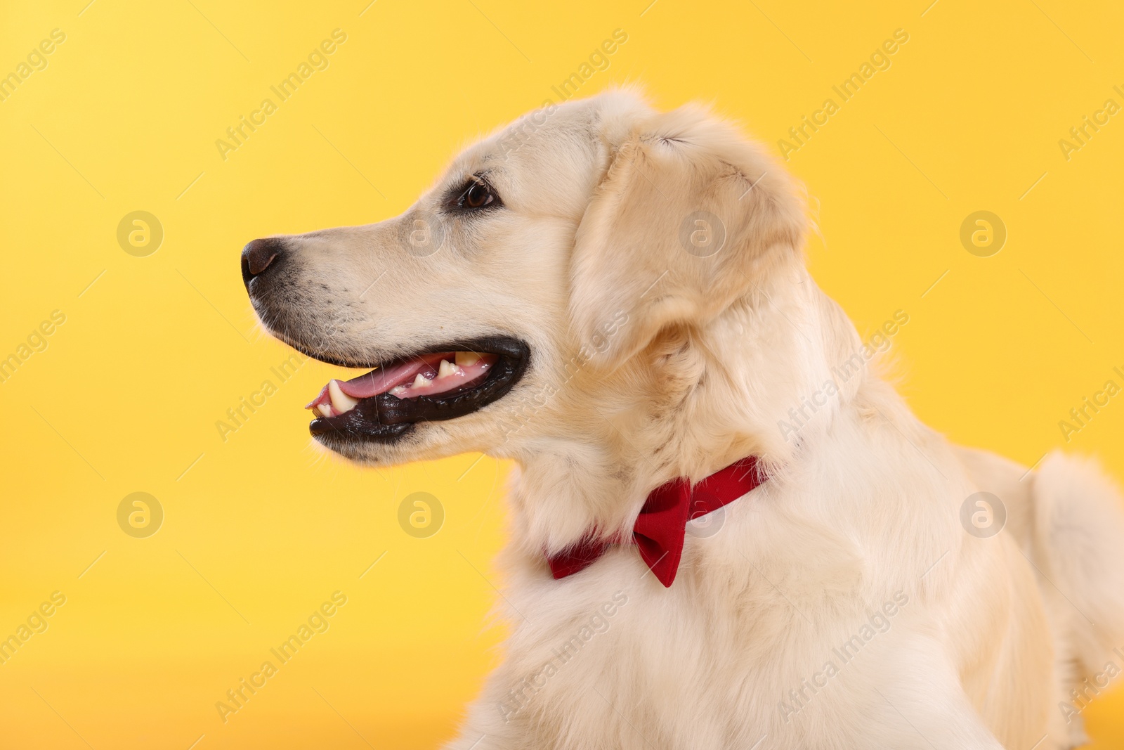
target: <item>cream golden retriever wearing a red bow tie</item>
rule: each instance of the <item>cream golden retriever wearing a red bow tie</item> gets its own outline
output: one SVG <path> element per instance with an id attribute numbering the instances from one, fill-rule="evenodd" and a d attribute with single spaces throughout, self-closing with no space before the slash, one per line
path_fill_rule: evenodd
<path id="1" fill-rule="evenodd" d="M 1124 666 L 1118 494 L 923 425 L 806 270 L 801 196 L 736 126 L 618 89 L 399 217 L 244 249 L 272 335 L 371 370 L 312 400 L 316 442 L 518 467 L 505 659 L 447 748 L 1085 740 Z"/>

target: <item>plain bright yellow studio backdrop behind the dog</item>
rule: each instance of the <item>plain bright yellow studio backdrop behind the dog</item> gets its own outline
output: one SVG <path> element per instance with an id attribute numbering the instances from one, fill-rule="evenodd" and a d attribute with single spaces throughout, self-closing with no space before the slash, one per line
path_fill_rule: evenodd
<path id="1" fill-rule="evenodd" d="M 316 362 L 223 441 L 216 421 L 289 356 L 255 327 L 238 252 L 400 213 L 460 146 L 558 100 L 617 28 L 580 96 L 631 81 L 661 107 L 713 101 L 771 148 L 905 29 L 891 67 L 790 154 L 818 207 L 817 280 L 862 334 L 909 314 L 903 390 L 958 442 L 1034 463 L 1084 396 L 1124 385 L 1124 114 L 1068 161 L 1058 145 L 1124 103 L 1118 3 L 88 1 L 0 11 L 0 73 L 66 34 L 0 102 L 0 356 L 66 315 L 0 383 L 0 635 L 67 597 L 0 666 L 4 748 L 451 737 L 497 659 L 507 467 L 319 458 L 301 407 L 342 372 Z M 215 141 L 335 28 L 329 67 L 224 161 Z M 117 242 L 134 210 L 164 229 L 146 257 Z M 959 240 L 977 210 L 1007 227 L 991 257 Z M 1124 476 L 1124 397 L 1069 448 Z M 117 524 L 134 491 L 165 512 L 147 539 Z M 429 539 L 397 521 L 415 491 L 445 509 Z M 224 724 L 215 703 L 335 590 L 330 629 Z M 1122 747 L 1122 706 L 1086 712 L 1094 747 Z"/>

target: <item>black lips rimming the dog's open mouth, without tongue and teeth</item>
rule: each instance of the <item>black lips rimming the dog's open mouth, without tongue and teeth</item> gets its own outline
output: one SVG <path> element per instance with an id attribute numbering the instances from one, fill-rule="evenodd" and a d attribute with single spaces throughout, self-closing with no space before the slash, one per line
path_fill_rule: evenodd
<path id="1" fill-rule="evenodd" d="M 328 448 L 343 446 L 355 441 L 397 442 L 413 432 L 420 422 L 455 419 L 499 400 L 519 381 L 531 362 L 531 347 L 524 341 L 513 336 L 486 336 L 427 346 L 411 352 L 408 356 L 388 361 L 384 367 L 392 367 L 420 354 L 453 351 L 498 354 L 499 359 L 482 380 L 452 395 L 399 399 L 390 394 L 379 394 L 360 399 L 354 409 L 338 416 L 316 417 L 308 425 L 308 431 Z M 305 353 L 343 367 L 373 367 Z"/>

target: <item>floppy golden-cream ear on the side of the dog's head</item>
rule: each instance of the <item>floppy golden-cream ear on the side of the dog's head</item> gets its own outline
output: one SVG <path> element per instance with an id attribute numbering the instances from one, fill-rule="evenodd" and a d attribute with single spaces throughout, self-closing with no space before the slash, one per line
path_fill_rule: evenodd
<path id="1" fill-rule="evenodd" d="M 805 224 L 788 175 L 732 126 L 695 107 L 641 115 L 578 227 L 570 313 L 590 364 L 705 325 L 799 256 Z"/>

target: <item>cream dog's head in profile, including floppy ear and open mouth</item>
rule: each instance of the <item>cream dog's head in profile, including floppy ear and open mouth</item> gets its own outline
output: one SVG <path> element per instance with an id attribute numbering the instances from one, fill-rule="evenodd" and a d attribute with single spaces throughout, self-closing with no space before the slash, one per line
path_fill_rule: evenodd
<path id="1" fill-rule="evenodd" d="M 637 362 L 661 333 L 710 325 L 798 257 L 804 226 L 734 128 L 614 91 L 468 148 L 399 217 L 255 240 L 242 272 L 273 335 L 372 370 L 310 404 L 326 446 L 517 455 L 658 379 Z"/>

